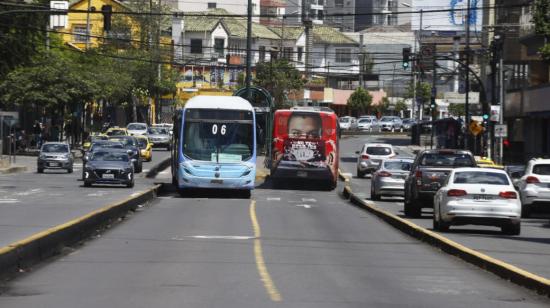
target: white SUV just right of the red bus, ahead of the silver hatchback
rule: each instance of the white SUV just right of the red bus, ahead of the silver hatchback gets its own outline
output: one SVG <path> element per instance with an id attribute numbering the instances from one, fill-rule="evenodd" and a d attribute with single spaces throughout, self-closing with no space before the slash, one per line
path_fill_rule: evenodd
<path id="1" fill-rule="evenodd" d="M 361 151 L 355 152 L 357 157 L 357 177 L 362 178 L 366 173 L 378 169 L 378 165 L 384 159 L 397 155 L 391 144 L 387 143 L 366 143 Z"/>

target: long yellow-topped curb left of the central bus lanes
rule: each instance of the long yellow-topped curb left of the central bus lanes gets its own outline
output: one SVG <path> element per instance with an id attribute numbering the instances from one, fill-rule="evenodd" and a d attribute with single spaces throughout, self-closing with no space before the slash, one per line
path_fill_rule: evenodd
<path id="1" fill-rule="evenodd" d="M 9 277 L 89 238 L 128 211 L 155 198 L 161 185 L 0 248 L 0 277 Z"/>

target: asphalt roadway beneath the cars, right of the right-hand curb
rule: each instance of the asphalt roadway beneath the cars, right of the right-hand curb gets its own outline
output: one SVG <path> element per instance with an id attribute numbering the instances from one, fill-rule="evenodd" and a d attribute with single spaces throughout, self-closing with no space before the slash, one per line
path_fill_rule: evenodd
<path id="1" fill-rule="evenodd" d="M 340 155 L 343 163 L 340 168 L 353 176 L 351 181 L 353 192 L 368 199 L 370 198 L 370 177 L 360 179 L 356 177 L 355 173 L 355 151 L 359 150 L 366 142 L 388 142 L 397 145 L 397 152 L 400 156 L 411 156 L 413 153 L 406 147 L 409 141 L 404 136 L 355 136 L 342 140 Z M 405 217 L 402 198 L 382 198 L 381 201 L 373 203 L 393 214 Z M 406 218 L 417 225 L 432 229 L 431 209 L 423 209 L 422 218 Z M 519 236 L 503 235 L 500 228 L 484 226 L 454 226 L 451 227 L 451 232 L 444 233 L 444 235 L 469 248 L 550 278 L 549 218 L 548 214 L 539 213 L 534 214 L 533 218 L 522 219 L 522 230 Z"/>

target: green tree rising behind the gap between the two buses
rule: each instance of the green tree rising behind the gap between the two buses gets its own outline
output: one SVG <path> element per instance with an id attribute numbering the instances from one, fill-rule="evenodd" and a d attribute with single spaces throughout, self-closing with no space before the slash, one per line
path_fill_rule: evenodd
<path id="1" fill-rule="evenodd" d="M 258 63 L 254 84 L 267 89 L 273 95 L 276 108 L 285 105 L 290 91 L 304 88 L 300 72 L 286 59 Z"/>

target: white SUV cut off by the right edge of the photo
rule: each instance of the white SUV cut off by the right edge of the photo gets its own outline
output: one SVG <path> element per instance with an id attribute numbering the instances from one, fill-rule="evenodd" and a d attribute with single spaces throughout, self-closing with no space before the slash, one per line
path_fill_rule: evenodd
<path id="1" fill-rule="evenodd" d="M 522 217 L 529 217 L 536 204 L 550 206 L 550 159 L 531 159 L 516 186 L 521 196 Z"/>

